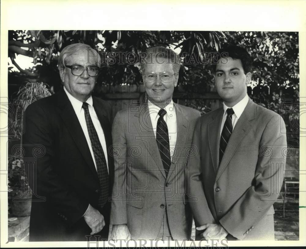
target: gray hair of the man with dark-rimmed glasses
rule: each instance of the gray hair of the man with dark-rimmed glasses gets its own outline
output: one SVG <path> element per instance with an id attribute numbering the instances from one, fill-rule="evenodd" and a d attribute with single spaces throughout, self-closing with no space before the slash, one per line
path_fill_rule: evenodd
<path id="1" fill-rule="evenodd" d="M 93 53 L 97 58 L 96 63 L 100 66 L 101 58 L 100 58 L 99 53 L 96 50 L 94 50 L 93 48 L 91 48 L 91 46 L 87 44 L 74 43 L 74 44 L 70 44 L 63 48 L 61 54 L 58 57 L 58 69 L 59 70 L 65 69 L 65 62 L 67 61 L 67 58 L 69 58 L 69 56 L 73 54 L 78 54 L 78 53 L 81 54 L 84 52 L 84 50 L 87 50 Z"/>

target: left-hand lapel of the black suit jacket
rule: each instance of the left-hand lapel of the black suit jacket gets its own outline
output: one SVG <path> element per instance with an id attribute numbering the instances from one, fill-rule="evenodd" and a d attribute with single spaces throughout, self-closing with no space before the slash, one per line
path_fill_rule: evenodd
<path id="1" fill-rule="evenodd" d="M 59 107 L 62 109 L 61 117 L 70 135 L 72 136 L 74 142 L 76 143 L 76 146 L 79 148 L 80 153 L 83 155 L 85 162 L 88 164 L 88 167 L 90 168 L 91 172 L 98 179 L 98 174 L 95 169 L 95 164 L 92 160 L 84 132 L 76 116 L 76 113 L 69 101 L 69 98 L 67 97 L 64 90 L 58 93 L 58 104 Z"/>

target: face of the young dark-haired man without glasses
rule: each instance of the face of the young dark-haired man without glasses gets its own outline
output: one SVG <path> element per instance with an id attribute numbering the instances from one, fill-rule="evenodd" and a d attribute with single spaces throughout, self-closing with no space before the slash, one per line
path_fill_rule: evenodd
<path id="1" fill-rule="evenodd" d="M 251 73 L 244 72 L 240 59 L 228 58 L 226 64 L 217 64 L 215 85 L 226 106 L 233 107 L 247 94 Z"/>

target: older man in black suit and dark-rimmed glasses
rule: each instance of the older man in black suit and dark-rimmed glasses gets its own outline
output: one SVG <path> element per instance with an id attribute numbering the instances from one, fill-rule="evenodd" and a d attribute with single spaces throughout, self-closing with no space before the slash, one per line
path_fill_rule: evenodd
<path id="1" fill-rule="evenodd" d="M 26 158 L 35 146 L 43 150 L 34 167 L 26 168 L 34 193 L 30 241 L 108 238 L 111 106 L 91 96 L 100 63 L 86 44 L 65 47 L 58 62 L 64 89 L 25 111 Z"/>

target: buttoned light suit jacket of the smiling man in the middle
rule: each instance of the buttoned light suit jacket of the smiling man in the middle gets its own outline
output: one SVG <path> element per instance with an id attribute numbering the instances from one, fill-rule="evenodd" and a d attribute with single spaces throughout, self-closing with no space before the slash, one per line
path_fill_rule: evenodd
<path id="1" fill-rule="evenodd" d="M 174 104 L 177 142 L 166 177 L 147 103 L 117 113 L 113 123 L 115 177 L 111 224 L 127 224 L 132 239 L 156 239 L 167 209 L 174 239 L 190 239 L 185 170 L 199 111 Z"/>

